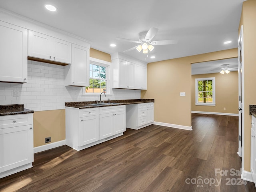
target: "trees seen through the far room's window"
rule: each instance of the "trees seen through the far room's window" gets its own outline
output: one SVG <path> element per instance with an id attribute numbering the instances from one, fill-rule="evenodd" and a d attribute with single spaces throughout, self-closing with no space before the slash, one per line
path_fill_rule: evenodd
<path id="1" fill-rule="evenodd" d="M 212 80 L 198 81 L 198 103 L 212 103 Z"/>

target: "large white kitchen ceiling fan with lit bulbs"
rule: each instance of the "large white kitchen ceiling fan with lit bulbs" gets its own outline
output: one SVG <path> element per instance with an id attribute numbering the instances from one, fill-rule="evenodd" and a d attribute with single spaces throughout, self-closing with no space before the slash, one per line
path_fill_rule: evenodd
<path id="1" fill-rule="evenodd" d="M 140 45 L 137 45 L 135 47 L 132 47 L 126 51 L 131 51 L 131 50 L 138 50 L 140 52 L 143 50 L 144 54 L 148 53 L 149 51 L 152 51 L 154 49 L 154 45 L 171 45 L 171 44 L 176 44 L 178 43 L 177 40 L 159 40 L 159 41 L 152 41 L 156 33 L 158 32 L 158 28 L 151 27 L 148 31 L 143 31 L 139 33 L 139 40 L 130 40 L 130 39 L 124 39 L 124 38 L 116 38 L 117 40 L 122 40 L 122 41 L 128 41 L 128 42 L 133 42 L 133 43 L 138 43 Z"/>

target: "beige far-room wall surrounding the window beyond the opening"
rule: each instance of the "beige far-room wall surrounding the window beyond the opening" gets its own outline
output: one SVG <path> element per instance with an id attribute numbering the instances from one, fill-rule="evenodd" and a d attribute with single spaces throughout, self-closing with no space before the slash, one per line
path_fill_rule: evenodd
<path id="1" fill-rule="evenodd" d="M 215 77 L 215 106 L 195 105 L 196 78 Z M 192 75 L 191 110 L 203 112 L 233 113 L 238 114 L 238 72 Z M 224 110 L 224 107 L 226 110 Z"/>

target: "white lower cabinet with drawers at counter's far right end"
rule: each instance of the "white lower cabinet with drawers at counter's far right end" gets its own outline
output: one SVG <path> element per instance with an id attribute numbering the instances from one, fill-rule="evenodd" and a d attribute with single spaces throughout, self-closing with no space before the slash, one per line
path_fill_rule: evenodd
<path id="1" fill-rule="evenodd" d="M 126 128 L 140 129 L 153 124 L 154 103 L 130 104 L 126 106 Z"/>

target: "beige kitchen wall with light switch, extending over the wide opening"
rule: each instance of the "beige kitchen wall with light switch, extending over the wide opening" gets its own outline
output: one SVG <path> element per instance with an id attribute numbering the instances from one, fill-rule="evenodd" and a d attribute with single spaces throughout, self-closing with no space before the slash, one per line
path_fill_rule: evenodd
<path id="1" fill-rule="evenodd" d="M 155 99 L 154 120 L 191 126 L 191 64 L 237 56 L 234 48 L 148 63 L 148 90 L 141 91 L 141 98 Z M 186 96 L 181 97 L 180 92 Z"/>

